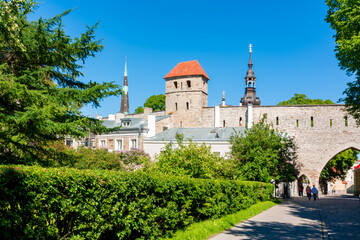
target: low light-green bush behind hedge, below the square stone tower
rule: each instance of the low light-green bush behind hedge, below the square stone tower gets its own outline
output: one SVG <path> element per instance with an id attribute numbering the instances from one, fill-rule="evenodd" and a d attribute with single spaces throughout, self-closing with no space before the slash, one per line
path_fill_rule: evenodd
<path id="1" fill-rule="evenodd" d="M 191 140 L 185 144 L 182 137 L 177 143 L 177 147 L 167 144 L 146 171 L 205 179 L 227 177 L 231 163 L 212 153 L 210 146 L 197 145 Z"/>

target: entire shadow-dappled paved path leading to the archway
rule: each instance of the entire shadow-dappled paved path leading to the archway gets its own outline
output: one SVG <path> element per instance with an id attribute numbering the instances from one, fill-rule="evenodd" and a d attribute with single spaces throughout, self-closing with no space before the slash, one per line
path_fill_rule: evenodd
<path id="1" fill-rule="evenodd" d="M 360 203 L 349 196 L 309 201 L 297 197 L 268 209 L 211 240 L 360 239 Z"/>

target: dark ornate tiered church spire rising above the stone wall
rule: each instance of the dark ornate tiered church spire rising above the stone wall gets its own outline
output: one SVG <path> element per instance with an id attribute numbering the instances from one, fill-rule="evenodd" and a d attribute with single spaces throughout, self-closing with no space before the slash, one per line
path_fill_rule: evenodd
<path id="1" fill-rule="evenodd" d="M 249 46 L 250 48 L 250 59 L 249 59 L 249 69 L 246 73 L 246 77 L 245 77 L 245 95 L 244 97 L 240 100 L 240 106 L 244 105 L 260 105 L 261 101 L 260 98 L 256 96 L 256 77 L 255 77 L 255 73 L 254 70 L 252 69 L 253 63 L 251 60 L 251 53 L 252 53 L 252 45 L 250 44 Z"/>

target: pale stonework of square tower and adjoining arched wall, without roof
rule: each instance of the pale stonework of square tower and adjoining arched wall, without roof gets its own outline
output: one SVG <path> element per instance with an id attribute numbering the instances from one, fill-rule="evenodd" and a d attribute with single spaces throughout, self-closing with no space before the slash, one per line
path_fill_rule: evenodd
<path id="1" fill-rule="evenodd" d="M 220 106 L 217 113 L 216 107 L 207 106 L 204 73 L 165 80 L 166 113 L 172 114 L 172 127 L 246 126 L 266 115 L 274 128 L 293 139 L 299 177 L 307 176 L 311 184 L 319 186 L 320 173 L 332 157 L 349 148 L 360 150 L 360 129 L 344 105 Z"/>

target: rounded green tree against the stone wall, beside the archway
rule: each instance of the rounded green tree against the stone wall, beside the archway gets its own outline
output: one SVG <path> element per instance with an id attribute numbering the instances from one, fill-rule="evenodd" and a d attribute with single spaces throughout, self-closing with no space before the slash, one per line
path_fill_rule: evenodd
<path id="1" fill-rule="evenodd" d="M 261 182 L 295 179 L 295 146 L 287 135 L 267 124 L 266 118 L 244 133 L 232 135 L 230 143 L 236 178 Z"/>

